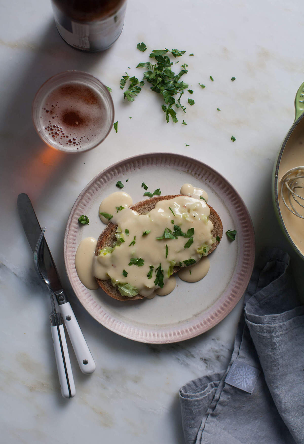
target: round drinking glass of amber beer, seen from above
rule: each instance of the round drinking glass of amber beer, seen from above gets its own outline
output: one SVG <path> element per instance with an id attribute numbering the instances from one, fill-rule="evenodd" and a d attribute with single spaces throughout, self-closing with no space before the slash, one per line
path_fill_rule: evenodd
<path id="1" fill-rule="evenodd" d="M 54 75 L 39 88 L 32 118 L 43 142 L 79 153 L 97 147 L 114 122 L 114 105 L 105 85 L 83 71 Z"/>

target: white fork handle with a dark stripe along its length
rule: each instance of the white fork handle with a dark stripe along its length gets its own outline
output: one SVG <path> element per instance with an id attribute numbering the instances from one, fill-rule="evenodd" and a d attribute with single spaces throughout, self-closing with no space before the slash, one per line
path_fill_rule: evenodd
<path id="1" fill-rule="evenodd" d="M 61 351 L 59 334 L 61 337 L 63 353 Z M 67 349 L 67 341 L 64 334 L 63 324 L 59 325 L 59 334 L 57 326 L 56 325 L 51 326 L 51 335 L 54 342 L 55 358 L 56 358 L 61 394 L 64 398 L 70 398 L 70 397 L 72 398 L 73 396 L 75 396 L 76 390 L 75 390 L 75 383 L 71 369 L 71 362 L 70 362 L 69 352 Z M 66 368 L 64 367 L 63 356 L 65 359 Z M 69 392 L 68 383 L 70 385 L 71 393 Z"/>

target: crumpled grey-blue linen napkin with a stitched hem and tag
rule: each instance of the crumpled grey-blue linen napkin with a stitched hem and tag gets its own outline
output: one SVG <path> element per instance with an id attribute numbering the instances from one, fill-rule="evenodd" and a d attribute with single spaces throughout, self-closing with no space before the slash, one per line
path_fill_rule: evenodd
<path id="1" fill-rule="evenodd" d="M 180 389 L 186 444 L 304 443 L 304 306 L 288 264 L 262 254 L 227 370 Z"/>

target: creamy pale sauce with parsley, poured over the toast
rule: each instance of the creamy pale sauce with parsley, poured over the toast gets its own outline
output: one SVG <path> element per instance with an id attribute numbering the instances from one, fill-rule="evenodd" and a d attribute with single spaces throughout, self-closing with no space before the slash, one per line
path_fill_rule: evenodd
<path id="1" fill-rule="evenodd" d="M 182 186 L 181 194 L 158 202 L 148 214 L 131 210 L 132 198 L 123 191 L 105 198 L 99 206 L 99 217 L 105 224 L 110 221 L 117 225 L 117 241 L 99 250 L 99 256 L 95 256 L 95 239 L 86 238 L 79 244 L 75 267 L 83 285 L 96 289 L 95 277 L 111 279 L 126 295 L 141 294 L 151 299 L 174 290 L 176 279 L 170 277 L 174 266 L 183 267 L 179 277 L 184 281 L 204 277 L 209 260 L 201 257 L 215 242 L 206 204 L 208 195 L 190 184 Z M 107 217 L 100 213 L 107 213 Z"/>

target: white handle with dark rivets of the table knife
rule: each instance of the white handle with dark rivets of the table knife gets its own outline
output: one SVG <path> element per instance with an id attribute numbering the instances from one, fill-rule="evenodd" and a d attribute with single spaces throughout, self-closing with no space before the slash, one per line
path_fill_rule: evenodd
<path id="1" fill-rule="evenodd" d="M 96 369 L 95 361 L 91 355 L 87 342 L 84 339 L 70 302 L 59 305 L 59 310 L 63 317 L 64 325 L 69 334 L 80 370 L 83 373 L 90 374 Z"/>

